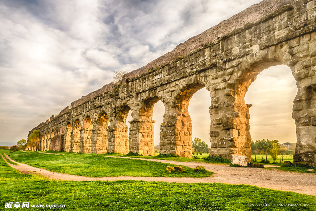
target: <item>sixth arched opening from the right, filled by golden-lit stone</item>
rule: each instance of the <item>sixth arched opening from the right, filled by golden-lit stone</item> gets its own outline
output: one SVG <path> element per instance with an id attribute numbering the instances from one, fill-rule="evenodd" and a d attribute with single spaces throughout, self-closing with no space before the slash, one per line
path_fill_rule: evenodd
<path id="1" fill-rule="evenodd" d="M 83 121 L 83 130 L 81 130 L 82 135 L 80 136 L 80 152 L 90 153 L 91 152 L 91 136 L 92 136 L 92 122 L 91 118 L 87 116 Z"/>

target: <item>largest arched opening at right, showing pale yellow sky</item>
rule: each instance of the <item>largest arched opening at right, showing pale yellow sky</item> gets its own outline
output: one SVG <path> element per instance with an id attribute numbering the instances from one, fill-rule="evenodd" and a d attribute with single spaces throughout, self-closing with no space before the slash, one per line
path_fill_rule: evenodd
<path id="1" fill-rule="evenodd" d="M 286 65 L 272 66 L 258 75 L 245 95 L 245 102 L 252 104 L 250 134 L 254 142 L 269 139 L 296 144 L 292 108 L 297 91 L 295 78 Z M 263 148 L 258 150 L 265 153 Z"/>

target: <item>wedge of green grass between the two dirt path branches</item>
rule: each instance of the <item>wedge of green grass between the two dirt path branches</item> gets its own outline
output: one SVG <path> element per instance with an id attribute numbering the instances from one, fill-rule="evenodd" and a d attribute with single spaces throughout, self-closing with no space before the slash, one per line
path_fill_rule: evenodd
<path id="1" fill-rule="evenodd" d="M 213 172 L 194 173 L 193 168 L 182 166 L 185 173 L 166 172 L 166 166 L 173 164 L 134 160 L 126 158 L 103 157 L 96 154 L 67 153 L 50 155 L 38 152 L 6 153 L 19 163 L 36 168 L 44 168 L 58 173 L 88 177 L 141 176 L 141 177 L 209 177 Z"/>

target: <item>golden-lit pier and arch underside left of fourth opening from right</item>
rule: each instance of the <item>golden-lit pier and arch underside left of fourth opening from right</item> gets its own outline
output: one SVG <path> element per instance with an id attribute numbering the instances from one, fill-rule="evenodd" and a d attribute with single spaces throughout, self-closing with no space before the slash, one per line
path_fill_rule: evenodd
<path id="1" fill-rule="evenodd" d="M 128 127 L 126 118 L 131 107 L 127 104 L 116 106 L 110 117 L 110 126 L 107 129 L 108 152 L 128 153 Z M 133 113 L 132 113 L 133 116 Z"/>

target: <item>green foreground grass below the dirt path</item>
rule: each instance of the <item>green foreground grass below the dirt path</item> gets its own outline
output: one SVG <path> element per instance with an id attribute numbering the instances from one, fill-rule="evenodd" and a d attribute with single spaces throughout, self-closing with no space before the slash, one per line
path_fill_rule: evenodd
<path id="1" fill-rule="evenodd" d="M 64 211 L 316 210 L 316 197 L 252 185 L 47 180 L 40 175 L 21 174 L 2 159 L 0 186 L 0 210 L 9 210 L 4 208 L 5 202 L 30 202 L 27 210 L 34 211 L 43 209 L 31 208 L 32 204 L 54 203 L 65 204 L 65 208 L 54 208 Z M 248 203 L 309 206 L 263 208 L 248 207 Z"/>

